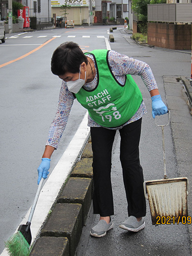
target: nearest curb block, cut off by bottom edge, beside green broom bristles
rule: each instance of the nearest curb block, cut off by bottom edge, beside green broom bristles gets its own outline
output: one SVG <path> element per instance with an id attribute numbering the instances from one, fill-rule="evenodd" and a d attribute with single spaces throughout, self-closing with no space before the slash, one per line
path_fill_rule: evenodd
<path id="1" fill-rule="evenodd" d="M 67 237 L 39 237 L 30 256 L 69 256 Z"/>

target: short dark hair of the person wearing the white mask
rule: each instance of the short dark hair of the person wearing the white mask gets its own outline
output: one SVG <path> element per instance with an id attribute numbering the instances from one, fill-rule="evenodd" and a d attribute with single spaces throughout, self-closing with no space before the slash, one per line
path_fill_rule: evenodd
<path id="1" fill-rule="evenodd" d="M 88 63 L 79 45 L 74 42 L 65 42 L 53 52 L 51 72 L 56 75 L 63 75 L 66 72 L 79 73 L 82 62 Z"/>

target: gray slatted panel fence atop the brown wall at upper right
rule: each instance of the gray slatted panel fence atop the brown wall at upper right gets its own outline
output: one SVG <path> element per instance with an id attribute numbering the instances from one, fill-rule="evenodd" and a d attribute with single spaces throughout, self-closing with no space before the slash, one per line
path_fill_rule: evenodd
<path id="1" fill-rule="evenodd" d="M 148 4 L 148 21 L 192 23 L 192 3 Z"/>

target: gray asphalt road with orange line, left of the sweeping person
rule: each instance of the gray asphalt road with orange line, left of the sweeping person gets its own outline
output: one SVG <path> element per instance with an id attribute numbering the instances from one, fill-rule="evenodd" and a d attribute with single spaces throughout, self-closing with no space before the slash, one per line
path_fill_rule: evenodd
<path id="1" fill-rule="evenodd" d="M 108 29 L 100 26 L 13 33 L 6 35 L 4 44 L 0 43 L 0 253 L 36 194 L 37 167 L 61 85 L 50 71 L 52 53 L 65 41 L 77 42 L 84 52 L 106 49 Z M 51 158 L 50 171 L 84 114 L 83 107 L 74 101 L 60 146 Z"/>

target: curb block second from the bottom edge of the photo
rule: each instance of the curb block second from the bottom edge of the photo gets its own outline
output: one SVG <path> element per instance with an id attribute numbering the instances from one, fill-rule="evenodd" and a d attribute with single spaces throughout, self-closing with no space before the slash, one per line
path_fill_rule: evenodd
<path id="1" fill-rule="evenodd" d="M 41 231 L 41 236 L 67 237 L 70 256 L 73 256 L 81 238 L 82 216 L 80 204 L 56 204 Z"/>

